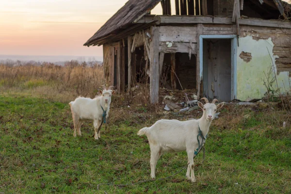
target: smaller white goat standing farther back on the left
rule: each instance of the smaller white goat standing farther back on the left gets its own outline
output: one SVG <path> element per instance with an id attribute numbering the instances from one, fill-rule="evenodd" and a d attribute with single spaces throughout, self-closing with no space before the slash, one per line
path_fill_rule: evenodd
<path id="1" fill-rule="evenodd" d="M 111 95 L 114 94 L 113 86 L 109 86 L 108 89 L 102 85 L 103 91 L 99 90 L 100 96 L 94 99 L 88 97 L 77 97 L 75 101 L 69 103 L 72 111 L 74 121 L 74 137 L 77 136 L 76 131 L 78 129 L 78 135 L 81 136 L 81 125 L 84 121 L 94 121 L 95 135 L 97 140 L 100 138 L 100 130 L 98 128 L 101 125 L 103 116 L 108 118 Z M 106 114 L 105 114 L 106 113 Z"/>

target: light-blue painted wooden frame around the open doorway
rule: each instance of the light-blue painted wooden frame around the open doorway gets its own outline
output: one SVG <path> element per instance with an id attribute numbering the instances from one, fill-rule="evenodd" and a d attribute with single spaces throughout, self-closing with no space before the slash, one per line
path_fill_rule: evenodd
<path id="1" fill-rule="evenodd" d="M 231 99 L 237 98 L 237 35 L 199 35 L 199 81 L 203 80 L 203 39 L 231 39 Z M 203 95 L 203 91 L 200 91 Z"/>

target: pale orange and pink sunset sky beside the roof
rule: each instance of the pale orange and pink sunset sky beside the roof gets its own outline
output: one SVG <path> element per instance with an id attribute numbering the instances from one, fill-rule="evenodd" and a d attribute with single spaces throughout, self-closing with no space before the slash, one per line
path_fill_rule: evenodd
<path id="1" fill-rule="evenodd" d="M 102 47 L 83 44 L 126 1 L 0 0 L 0 54 L 102 56 Z"/>

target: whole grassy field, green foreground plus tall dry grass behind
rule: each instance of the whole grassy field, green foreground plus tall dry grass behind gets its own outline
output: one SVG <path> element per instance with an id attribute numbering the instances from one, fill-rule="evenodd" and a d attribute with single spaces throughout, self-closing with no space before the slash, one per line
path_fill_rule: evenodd
<path id="1" fill-rule="evenodd" d="M 160 118 L 186 120 L 202 112 L 164 112 L 162 104 L 150 106 L 146 97 L 134 96 L 140 92 L 133 98 L 113 95 L 101 139 L 92 137 L 91 122 L 74 138 L 68 102 L 96 95 L 103 73 L 93 71 L 0 66 L 0 194 L 291 193 L 291 114 L 265 106 L 223 107 L 210 126 L 204 163 L 202 153 L 194 160 L 195 183 L 186 180 L 183 169 L 167 180 L 116 186 L 150 178 L 150 149 L 146 136 L 136 135 L 139 129 Z M 88 74 L 89 84 L 80 74 Z M 167 153 L 157 163 L 156 177 L 168 177 L 186 164 L 185 152 Z"/>

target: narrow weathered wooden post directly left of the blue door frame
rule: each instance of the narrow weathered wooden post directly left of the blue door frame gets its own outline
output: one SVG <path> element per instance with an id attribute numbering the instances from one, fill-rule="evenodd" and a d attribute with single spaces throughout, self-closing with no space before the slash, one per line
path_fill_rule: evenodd
<path id="1" fill-rule="evenodd" d="M 197 97 L 201 97 L 201 93 L 203 94 L 203 91 L 201 92 L 201 82 L 202 80 L 200 79 L 200 58 L 199 54 L 202 52 L 202 50 L 199 49 L 200 44 L 203 44 L 203 42 L 200 42 L 199 36 L 203 34 L 203 24 L 198 24 L 197 25 L 197 57 L 196 57 L 196 89 L 197 89 Z"/>

